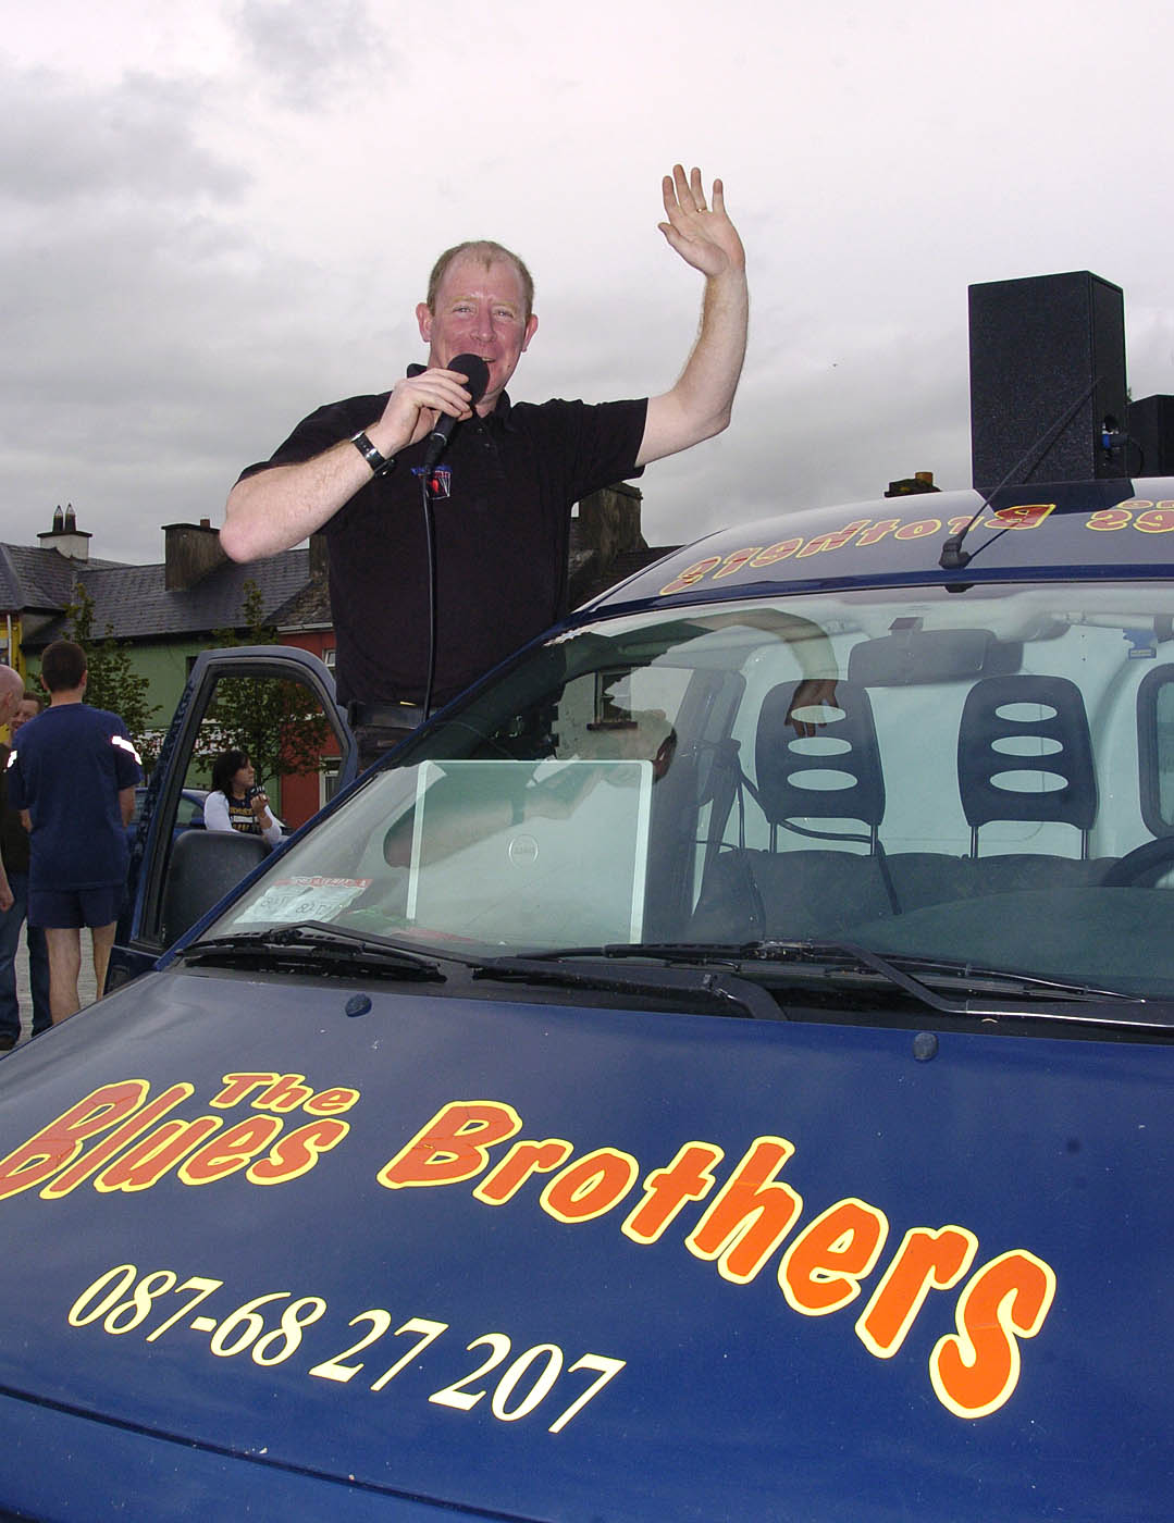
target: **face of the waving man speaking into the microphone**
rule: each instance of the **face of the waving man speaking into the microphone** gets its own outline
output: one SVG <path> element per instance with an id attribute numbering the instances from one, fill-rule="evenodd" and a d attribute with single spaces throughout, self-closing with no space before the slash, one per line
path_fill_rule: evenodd
<path id="1" fill-rule="evenodd" d="M 534 337 L 538 318 L 525 315 L 522 277 L 506 259 L 490 265 L 461 254 L 445 271 L 435 311 L 416 308 L 428 364 L 448 369 L 457 355 L 480 355 L 489 366 L 489 385 L 477 407 L 484 417 L 496 405 L 518 361 Z"/>

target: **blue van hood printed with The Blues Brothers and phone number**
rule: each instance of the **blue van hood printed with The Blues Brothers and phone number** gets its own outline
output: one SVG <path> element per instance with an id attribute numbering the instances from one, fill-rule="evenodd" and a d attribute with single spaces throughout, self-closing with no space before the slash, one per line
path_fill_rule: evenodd
<path id="1" fill-rule="evenodd" d="M 5 1499 L 107 1515 L 134 1451 L 151 1517 L 1159 1517 L 1172 1078 L 148 975 L 0 1063 Z"/>

